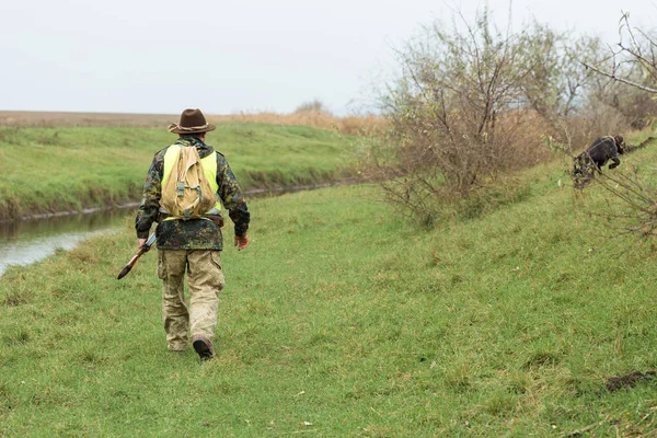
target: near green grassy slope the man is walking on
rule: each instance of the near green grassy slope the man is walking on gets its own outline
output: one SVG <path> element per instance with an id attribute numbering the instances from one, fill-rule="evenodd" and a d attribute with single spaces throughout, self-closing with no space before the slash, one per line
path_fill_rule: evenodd
<path id="1" fill-rule="evenodd" d="M 655 159 L 638 151 L 631 162 Z M 0 435 L 589 436 L 657 428 L 654 254 L 596 231 L 558 164 L 420 232 L 368 186 L 256 199 L 223 253 L 218 358 L 165 350 L 130 223 L 0 281 Z M 129 222 L 129 221 L 127 221 Z M 230 235 L 231 230 L 227 233 Z"/>

